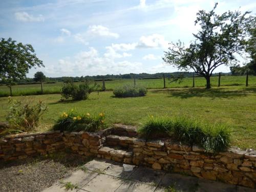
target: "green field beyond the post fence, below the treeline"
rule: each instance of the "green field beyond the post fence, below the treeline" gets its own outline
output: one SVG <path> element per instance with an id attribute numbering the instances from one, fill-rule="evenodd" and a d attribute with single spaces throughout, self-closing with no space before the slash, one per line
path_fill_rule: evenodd
<path id="1" fill-rule="evenodd" d="M 245 76 L 222 76 L 221 86 L 233 86 L 233 85 L 245 85 Z M 193 78 L 184 78 L 181 83 L 168 83 L 166 79 L 167 88 L 189 88 L 192 87 Z M 102 86 L 101 81 L 97 83 Z M 195 78 L 196 87 L 204 87 L 205 79 L 203 77 Z M 133 79 L 116 79 L 113 81 L 105 81 L 106 90 L 114 90 L 116 87 L 123 86 L 124 84 L 133 84 Z M 162 89 L 163 79 L 136 79 L 136 84 L 144 86 L 147 89 Z M 212 86 L 218 85 L 218 77 L 211 77 Z M 256 76 L 249 76 L 249 84 L 256 85 Z M 60 93 L 62 83 L 52 83 L 44 84 L 45 94 L 55 94 Z M 19 95 L 40 95 L 41 87 L 40 84 L 28 84 L 28 85 L 18 85 L 12 87 L 13 96 Z M 10 91 L 7 86 L 0 86 L 0 97 L 9 96 Z"/>

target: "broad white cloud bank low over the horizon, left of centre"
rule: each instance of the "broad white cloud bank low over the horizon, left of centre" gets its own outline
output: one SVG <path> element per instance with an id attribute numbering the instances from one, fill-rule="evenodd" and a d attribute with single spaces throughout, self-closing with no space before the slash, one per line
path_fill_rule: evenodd
<path id="1" fill-rule="evenodd" d="M 54 67 L 57 76 L 65 75 L 103 75 L 106 73 L 140 73 L 143 71 L 142 63 L 131 62 L 127 60 L 115 61 L 115 58 L 125 57 L 125 53 L 115 55 L 110 52 L 111 47 L 106 47 L 106 53 L 103 56 L 98 54 L 94 48 L 89 51 L 82 51 L 74 58 L 63 58 L 58 60 L 58 65 Z M 130 54 L 128 54 L 130 56 Z M 71 62 L 72 60 L 72 62 Z"/>

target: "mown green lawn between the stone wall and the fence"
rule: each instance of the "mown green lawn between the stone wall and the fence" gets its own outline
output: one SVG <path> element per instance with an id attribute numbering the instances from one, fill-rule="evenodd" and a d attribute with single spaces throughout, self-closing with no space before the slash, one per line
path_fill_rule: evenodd
<path id="1" fill-rule="evenodd" d="M 24 99 L 24 96 L 14 97 Z M 106 123 L 139 125 L 147 115 L 187 115 L 202 121 L 227 123 L 233 145 L 256 148 L 256 86 L 221 88 L 175 88 L 148 91 L 145 97 L 114 98 L 112 91 L 94 92 L 88 100 L 58 102 L 59 94 L 27 96 L 49 106 L 38 130 L 49 130 L 62 112 L 76 109 L 84 113 L 103 112 Z M 5 121 L 7 97 L 0 98 L 0 121 Z"/>

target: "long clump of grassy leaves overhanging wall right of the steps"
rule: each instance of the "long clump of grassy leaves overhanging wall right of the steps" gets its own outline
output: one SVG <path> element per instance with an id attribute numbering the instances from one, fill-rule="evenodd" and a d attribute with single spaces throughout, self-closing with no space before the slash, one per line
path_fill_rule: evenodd
<path id="1" fill-rule="evenodd" d="M 223 124 L 206 124 L 198 120 L 179 116 L 148 117 L 138 129 L 146 139 L 169 137 L 189 145 L 198 144 L 205 151 L 224 151 L 230 143 L 230 130 Z"/>

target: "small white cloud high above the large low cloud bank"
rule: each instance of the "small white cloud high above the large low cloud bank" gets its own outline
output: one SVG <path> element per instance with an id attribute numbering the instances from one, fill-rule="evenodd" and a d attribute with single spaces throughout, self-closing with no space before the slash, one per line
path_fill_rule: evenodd
<path id="1" fill-rule="evenodd" d="M 119 34 L 110 32 L 109 28 L 106 28 L 101 25 L 93 25 L 89 26 L 89 29 L 87 31 L 88 35 L 93 35 L 93 36 L 109 36 L 109 37 L 115 37 L 118 38 Z"/>

